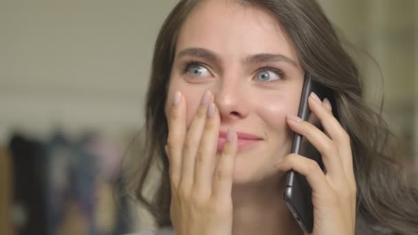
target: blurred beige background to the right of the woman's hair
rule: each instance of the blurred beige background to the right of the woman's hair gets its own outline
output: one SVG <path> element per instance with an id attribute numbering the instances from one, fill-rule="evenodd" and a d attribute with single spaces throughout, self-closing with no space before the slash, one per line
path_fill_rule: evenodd
<path id="1" fill-rule="evenodd" d="M 366 98 L 377 107 L 401 140 L 405 155 L 418 156 L 418 1 L 320 0 L 331 20 L 350 41 L 375 58 L 358 60 L 367 80 Z"/>

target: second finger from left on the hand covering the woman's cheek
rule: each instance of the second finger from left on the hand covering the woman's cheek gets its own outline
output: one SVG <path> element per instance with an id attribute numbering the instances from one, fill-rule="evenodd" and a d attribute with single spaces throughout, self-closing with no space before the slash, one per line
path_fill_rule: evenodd
<path id="1" fill-rule="evenodd" d="M 197 108 L 192 124 L 188 128 L 183 144 L 183 160 L 179 187 L 182 190 L 190 190 L 193 186 L 195 174 L 195 158 L 199 147 L 201 134 L 206 122 L 208 104 L 212 100 L 212 93 L 206 91 L 201 98 L 201 104 Z"/>

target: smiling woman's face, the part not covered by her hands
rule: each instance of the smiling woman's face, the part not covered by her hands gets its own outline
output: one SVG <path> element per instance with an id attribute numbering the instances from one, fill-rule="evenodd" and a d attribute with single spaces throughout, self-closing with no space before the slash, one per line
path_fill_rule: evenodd
<path id="1" fill-rule="evenodd" d="M 210 90 L 221 131 L 259 138 L 248 141 L 239 134 L 234 183 L 262 181 L 277 174 L 274 163 L 291 150 L 293 133 L 285 120 L 298 113 L 303 76 L 292 43 L 268 12 L 234 1 L 204 1 L 179 33 L 166 117 L 180 91 L 190 126 Z"/>

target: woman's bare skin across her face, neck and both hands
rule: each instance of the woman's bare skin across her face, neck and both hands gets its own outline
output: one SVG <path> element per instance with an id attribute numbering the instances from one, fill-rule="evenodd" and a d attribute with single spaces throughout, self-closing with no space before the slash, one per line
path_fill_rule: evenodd
<path id="1" fill-rule="evenodd" d="M 165 109 L 176 234 L 302 234 L 283 201 L 291 169 L 313 188 L 314 234 L 353 234 L 349 137 L 329 102 L 315 96 L 309 107 L 326 133 L 297 120 L 303 76 L 292 43 L 267 12 L 211 0 L 190 14 Z M 219 131 L 229 135 L 221 148 Z M 327 175 L 289 155 L 294 131 L 322 153 Z M 258 139 L 241 146 L 236 132 Z"/>

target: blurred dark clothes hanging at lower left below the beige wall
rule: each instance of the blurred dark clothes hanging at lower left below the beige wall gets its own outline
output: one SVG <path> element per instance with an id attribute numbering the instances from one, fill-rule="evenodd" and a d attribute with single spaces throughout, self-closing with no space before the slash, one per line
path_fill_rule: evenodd
<path id="1" fill-rule="evenodd" d="M 131 232 L 129 200 L 113 190 L 124 148 L 98 133 L 57 131 L 49 139 L 13 133 L 0 149 L 0 234 Z"/>

